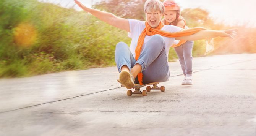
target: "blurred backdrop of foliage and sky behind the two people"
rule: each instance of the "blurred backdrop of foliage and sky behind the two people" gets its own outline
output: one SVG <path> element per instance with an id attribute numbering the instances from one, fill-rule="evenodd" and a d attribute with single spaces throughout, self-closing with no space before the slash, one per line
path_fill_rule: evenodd
<path id="1" fill-rule="evenodd" d="M 146 0 L 81 0 L 92 8 L 144 21 Z M 176 0 L 188 27 L 238 28 L 235 39 L 215 38 L 215 54 L 256 53 L 255 0 Z M 0 1 L 0 78 L 115 66 L 115 45 L 127 32 L 83 12 L 73 0 Z M 205 40 L 193 57 L 204 56 Z M 177 61 L 170 49 L 169 61 Z"/>

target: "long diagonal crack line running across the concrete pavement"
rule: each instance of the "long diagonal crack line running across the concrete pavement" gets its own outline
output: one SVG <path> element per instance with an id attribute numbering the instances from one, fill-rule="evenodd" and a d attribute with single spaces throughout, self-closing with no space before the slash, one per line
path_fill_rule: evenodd
<path id="1" fill-rule="evenodd" d="M 256 59 L 253 59 L 253 60 L 256 60 Z M 237 64 L 237 63 L 249 62 L 249 61 L 253 61 L 253 60 L 245 60 L 245 61 L 241 61 L 241 62 L 235 62 L 235 63 L 226 64 L 226 65 L 215 66 L 215 67 L 212 67 L 212 68 L 206 68 L 206 69 L 203 69 L 203 70 L 194 71 L 193 73 L 197 73 L 197 72 L 205 71 L 205 70 L 211 70 L 211 69 L 214 69 L 214 68 L 219 68 L 219 67 L 222 67 L 222 66 L 233 65 L 233 64 Z M 255 69 L 252 69 L 252 70 L 255 70 Z M 183 74 L 178 74 L 178 75 L 170 76 L 170 77 L 177 77 L 177 76 L 183 76 Z M 95 94 L 95 93 L 106 92 L 106 91 L 114 90 L 114 89 L 118 89 L 118 88 L 121 88 L 121 87 L 116 87 L 116 88 L 113 88 L 113 89 L 108 89 L 108 90 L 103 90 L 103 91 L 99 91 L 99 92 L 94 92 L 94 93 L 88 93 L 88 94 L 84 94 L 84 95 L 74 96 L 74 97 L 65 98 L 65 99 L 56 100 L 56 101 L 49 101 L 49 102 L 46 102 L 46 103 L 35 104 L 35 105 L 26 106 L 26 107 L 23 107 L 23 108 L 13 109 L 13 110 L 9 110 L 9 111 L 2 111 L 2 112 L 0 111 L 0 114 L 6 113 L 6 112 L 11 112 L 11 111 L 18 111 L 20 109 L 26 109 L 26 108 L 31 108 L 31 107 L 35 107 L 35 106 L 40 106 L 40 105 L 43 105 L 43 104 L 55 103 L 55 102 L 64 101 L 64 100 L 70 100 L 70 99 L 74 99 L 74 98 L 78 98 L 78 97 L 82 97 L 82 96 L 87 96 L 87 95 L 92 95 L 92 94 Z"/>

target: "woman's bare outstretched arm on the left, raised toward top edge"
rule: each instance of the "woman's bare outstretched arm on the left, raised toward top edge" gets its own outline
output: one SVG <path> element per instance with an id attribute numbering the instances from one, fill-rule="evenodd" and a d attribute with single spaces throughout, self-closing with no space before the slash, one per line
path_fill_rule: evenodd
<path id="1" fill-rule="evenodd" d="M 88 8 L 88 7 L 84 6 L 81 2 L 79 2 L 78 0 L 74 0 L 74 1 L 84 11 L 91 13 L 93 16 L 106 22 L 107 24 L 110 24 L 110 25 L 120 28 L 122 30 L 126 30 L 127 32 L 130 32 L 130 26 L 129 26 L 128 19 L 117 17 L 117 16 L 113 15 L 112 13 Z"/>

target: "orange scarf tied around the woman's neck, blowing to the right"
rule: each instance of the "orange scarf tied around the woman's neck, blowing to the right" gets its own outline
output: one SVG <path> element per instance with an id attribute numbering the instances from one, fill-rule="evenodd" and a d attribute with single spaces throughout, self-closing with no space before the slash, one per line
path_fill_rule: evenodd
<path id="1" fill-rule="evenodd" d="M 149 24 L 146 22 L 145 23 L 146 28 L 141 32 L 141 35 L 139 36 L 139 40 L 137 43 L 137 47 L 135 49 L 135 59 L 138 60 L 139 56 L 141 54 L 141 48 L 143 46 L 144 43 L 144 39 L 146 35 L 152 36 L 152 35 L 156 35 L 156 34 L 160 34 L 164 37 L 182 37 L 182 36 L 189 36 L 189 35 L 193 35 L 194 33 L 197 33 L 201 30 L 206 30 L 204 28 L 190 28 L 190 29 L 186 29 L 180 32 L 166 32 L 166 31 L 162 31 L 161 28 L 164 27 L 164 23 L 161 21 L 160 24 L 156 27 L 156 28 L 151 28 L 149 26 Z M 140 85 L 143 85 L 142 82 L 143 79 L 143 74 L 139 73 L 138 74 L 138 81 Z"/>

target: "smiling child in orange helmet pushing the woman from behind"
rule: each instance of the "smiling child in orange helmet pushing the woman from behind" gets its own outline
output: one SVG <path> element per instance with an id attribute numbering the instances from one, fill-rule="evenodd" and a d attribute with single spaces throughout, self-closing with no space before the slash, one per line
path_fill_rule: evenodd
<path id="1" fill-rule="evenodd" d="M 165 12 L 164 12 L 164 22 L 165 25 L 175 25 L 183 29 L 187 29 L 186 21 L 180 16 L 180 6 L 178 6 L 173 0 L 165 0 L 163 2 Z M 184 80 L 182 85 L 192 85 L 192 48 L 193 41 L 181 40 L 179 44 L 174 44 L 175 52 L 178 55 L 181 68 L 184 74 Z"/>

